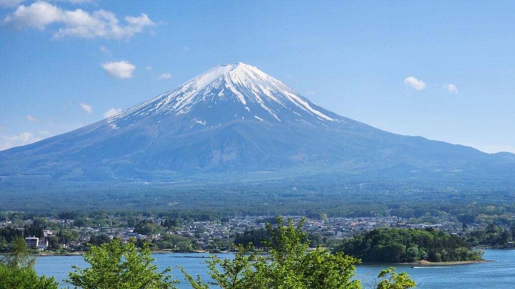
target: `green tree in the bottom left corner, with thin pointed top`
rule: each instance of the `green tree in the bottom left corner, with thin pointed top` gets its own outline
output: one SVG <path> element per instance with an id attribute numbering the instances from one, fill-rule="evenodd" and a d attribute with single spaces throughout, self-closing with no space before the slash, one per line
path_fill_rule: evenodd
<path id="1" fill-rule="evenodd" d="M 36 258 L 30 257 L 23 238 L 16 238 L 8 254 L 0 259 L 0 289 L 57 289 L 54 277 L 38 276 Z"/>

